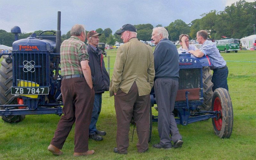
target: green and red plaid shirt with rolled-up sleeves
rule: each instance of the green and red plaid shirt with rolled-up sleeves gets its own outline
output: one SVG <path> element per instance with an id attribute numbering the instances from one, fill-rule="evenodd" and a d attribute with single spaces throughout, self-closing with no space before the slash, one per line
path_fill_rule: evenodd
<path id="1" fill-rule="evenodd" d="M 78 37 L 71 36 L 60 46 L 61 76 L 83 74 L 81 61 L 88 60 L 86 45 Z"/>

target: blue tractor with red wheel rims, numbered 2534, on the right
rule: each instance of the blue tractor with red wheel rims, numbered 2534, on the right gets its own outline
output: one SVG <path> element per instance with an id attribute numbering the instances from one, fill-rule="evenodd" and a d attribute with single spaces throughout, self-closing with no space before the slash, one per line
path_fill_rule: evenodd
<path id="1" fill-rule="evenodd" d="M 181 53 L 179 58 L 179 90 L 174 116 L 177 124 L 188 125 L 212 118 L 213 130 L 220 138 L 229 138 L 233 129 L 233 107 L 228 91 L 218 88 L 212 92 L 212 66 L 208 56 L 196 58 L 190 53 Z M 156 104 L 154 90 L 150 93 L 151 107 Z M 157 107 L 155 107 L 157 109 Z M 150 138 L 152 121 L 157 116 L 149 116 Z"/>

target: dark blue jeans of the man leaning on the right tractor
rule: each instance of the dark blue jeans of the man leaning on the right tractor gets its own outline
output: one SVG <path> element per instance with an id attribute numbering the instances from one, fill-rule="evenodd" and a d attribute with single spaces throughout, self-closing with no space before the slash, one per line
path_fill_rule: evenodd
<path id="1" fill-rule="evenodd" d="M 213 69 L 212 74 L 212 92 L 217 88 L 225 88 L 228 90 L 228 67 Z"/>

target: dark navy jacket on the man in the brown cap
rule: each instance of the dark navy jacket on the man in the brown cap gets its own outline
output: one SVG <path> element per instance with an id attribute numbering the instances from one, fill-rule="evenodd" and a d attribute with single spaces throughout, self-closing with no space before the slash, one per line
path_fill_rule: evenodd
<path id="1" fill-rule="evenodd" d="M 102 50 L 97 47 L 95 51 L 90 44 L 87 45 L 89 54 L 89 66 L 92 72 L 92 85 L 95 93 L 103 93 L 109 90 L 109 76 L 103 60 Z"/>

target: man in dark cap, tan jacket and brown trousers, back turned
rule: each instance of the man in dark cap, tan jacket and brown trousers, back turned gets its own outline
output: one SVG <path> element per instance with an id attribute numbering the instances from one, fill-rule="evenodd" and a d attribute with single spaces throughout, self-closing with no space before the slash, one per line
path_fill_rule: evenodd
<path id="1" fill-rule="evenodd" d="M 132 116 L 137 126 L 140 153 L 148 150 L 150 91 L 155 69 L 152 48 L 137 39 L 136 28 L 125 24 L 116 32 L 124 44 L 118 47 L 116 62 L 109 87 L 115 96 L 117 119 L 115 153 L 127 154 L 129 129 Z"/>

